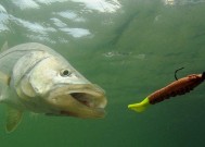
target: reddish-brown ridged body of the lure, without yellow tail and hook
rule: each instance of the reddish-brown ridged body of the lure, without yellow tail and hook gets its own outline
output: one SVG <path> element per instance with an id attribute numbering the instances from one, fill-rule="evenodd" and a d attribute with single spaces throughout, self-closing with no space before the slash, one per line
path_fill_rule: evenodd
<path id="1" fill-rule="evenodd" d="M 175 97 L 178 95 L 184 95 L 193 90 L 197 85 L 200 85 L 205 79 L 205 74 L 191 74 L 185 77 L 179 78 L 167 85 L 166 87 L 154 91 L 149 95 L 149 101 L 151 105 L 161 102 L 165 99 L 169 99 L 170 97 Z"/>

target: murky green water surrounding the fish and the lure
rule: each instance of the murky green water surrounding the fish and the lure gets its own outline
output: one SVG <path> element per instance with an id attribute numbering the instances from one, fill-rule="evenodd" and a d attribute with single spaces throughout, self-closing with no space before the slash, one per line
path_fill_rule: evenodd
<path id="1" fill-rule="evenodd" d="M 205 1 L 1 0 L 0 45 L 37 41 L 63 54 L 106 90 L 106 117 L 81 120 L 25 113 L 1 147 L 204 147 L 205 85 L 151 107 L 127 109 L 205 68 Z M 75 28 L 75 29 L 74 29 Z M 76 29 L 77 28 L 77 29 Z"/>

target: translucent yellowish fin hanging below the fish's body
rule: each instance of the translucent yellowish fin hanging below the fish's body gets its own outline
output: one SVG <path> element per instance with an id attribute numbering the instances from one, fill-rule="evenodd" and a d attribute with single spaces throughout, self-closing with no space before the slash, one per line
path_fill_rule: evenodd
<path id="1" fill-rule="evenodd" d="M 14 131 L 17 127 L 17 125 L 22 120 L 22 114 L 23 111 L 8 107 L 7 125 L 5 125 L 5 130 L 8 133 Z"/>

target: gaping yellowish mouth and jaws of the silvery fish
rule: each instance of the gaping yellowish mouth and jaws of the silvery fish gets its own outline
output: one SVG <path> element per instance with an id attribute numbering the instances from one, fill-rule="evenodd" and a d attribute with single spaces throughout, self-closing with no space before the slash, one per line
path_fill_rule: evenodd
<path id="1" fill-rule="evenodd" d="M 98 85 L 77 84 L 54 88 L 48 101 L 57 109 L 57 115 L 77 118 L 103 118 L 106 106 L 105 93 Z"/>

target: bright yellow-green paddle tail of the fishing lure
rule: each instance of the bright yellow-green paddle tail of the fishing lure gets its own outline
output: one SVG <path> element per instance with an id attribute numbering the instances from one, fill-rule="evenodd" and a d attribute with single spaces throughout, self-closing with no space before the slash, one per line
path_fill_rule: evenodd
<path id="1" fill-rule="evenodd" d="M 129 105 L 128 108 L 137 111 L 137 112 L 142 112 L 144 111 L 148 107 L 150 106 L 150 101 L 149 98 L 145 98 L 143 101 L 139 102 L 139 103 L 132 103 Z"/>

